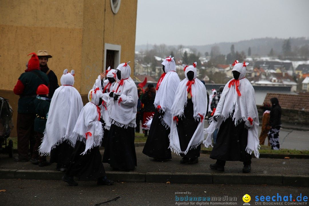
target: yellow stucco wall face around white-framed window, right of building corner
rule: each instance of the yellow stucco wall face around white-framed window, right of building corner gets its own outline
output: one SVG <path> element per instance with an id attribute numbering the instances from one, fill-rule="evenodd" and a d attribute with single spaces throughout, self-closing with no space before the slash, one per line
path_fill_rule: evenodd
<path id="1" fill-rule="evenodd" d="M 134 70 L 137 0 L 122 0 L 117 14 L 112 12 L 110 1 L 95 2 L 95 5 L 84 3 L 87 15 L 83 19 L 82 70 L 85 79 L 79 90 L 82 94 L 88 94 L 99 73 L 105 70 L 105 43 L 121 45 L 120 63 L 131 61 L 131 76 Z"/>

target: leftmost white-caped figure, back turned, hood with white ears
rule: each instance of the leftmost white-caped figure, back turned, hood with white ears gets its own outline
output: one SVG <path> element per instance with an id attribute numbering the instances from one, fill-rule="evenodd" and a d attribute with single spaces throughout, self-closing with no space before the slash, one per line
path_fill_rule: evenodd
<path id="1" fill-rule="evenodd" d="M 70 163 L 74 145 L 66 138 L 73 132 L 78 115 L 83 108 L 83 101 L 73 87 L 74 70 L 69 73 L 65 69 L 60 82 L 61 86 L 55 90 L 50 103 L 40 154 L 50 154 L 50 163 L 56 162 L 56 169 L 65 171 Z"/>

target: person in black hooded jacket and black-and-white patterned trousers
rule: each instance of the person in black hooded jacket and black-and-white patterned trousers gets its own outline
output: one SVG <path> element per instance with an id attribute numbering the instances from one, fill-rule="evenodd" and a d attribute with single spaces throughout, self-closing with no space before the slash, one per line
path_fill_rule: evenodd
<path id="1" fill-rule="evenodd" d="M 279 150 L 279 131 L 281 128 L 281 107 L 277 98 L 270 99 L 272 108 L 270 110 L 269 124 L 271 129 L 269 130 L 268 137 L 271 149 Z"/>

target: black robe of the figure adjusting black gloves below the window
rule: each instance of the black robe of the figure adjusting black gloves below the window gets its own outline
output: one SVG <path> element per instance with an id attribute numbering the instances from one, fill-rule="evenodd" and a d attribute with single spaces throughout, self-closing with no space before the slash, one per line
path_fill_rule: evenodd
<path id="1" fill-rule="evenodd" d="M 105 143 L 102 162 L 109 163 L 115 169 L 133 170 L 137 166 L 134 139 L 133 127 L 124 128 L 112 124 Z"/>

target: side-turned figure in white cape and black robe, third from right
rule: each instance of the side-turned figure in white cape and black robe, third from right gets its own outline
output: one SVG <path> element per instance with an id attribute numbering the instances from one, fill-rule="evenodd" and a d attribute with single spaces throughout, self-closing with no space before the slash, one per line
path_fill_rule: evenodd
<path id="1" fill-rule="evenodd" d="M 143 149 L 144 154 L 159 161 L 172 158 L 171 149 L 168 148 L 170 145 L 168 135 L 171 132 L 172 124 L 171 107 L 180 82 L 176 73 L 174 57 L 167 57 L 162 65 L 163 74 L 156 86 L 157 94 L 154 102 L 158 111 L 149 120 L 149 135 Z"/>

